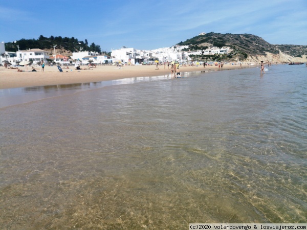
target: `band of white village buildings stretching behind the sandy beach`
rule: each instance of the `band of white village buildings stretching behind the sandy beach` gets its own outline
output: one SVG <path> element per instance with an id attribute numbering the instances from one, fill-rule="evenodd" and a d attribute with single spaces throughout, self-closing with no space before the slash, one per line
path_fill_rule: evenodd
<path id="1" fill-rule="evenodd" d="M 16 65 L 18 61 L 32 61 L 34 64 L 40 62 L 71 64 L 77 60 L 80 60 L 82 64 L 88 64 L 89 62 L 94 64 L 108 64 L 116 62 L 129 64 L 150 64 L 157 60 L 160 63 L 171 61 L 178 61 L 182 63 L 194 61 L 194 59 L 192 58 L 193 55 L 228 54 L 232 51 L 229 47 L 210 47 L 206 50 L 185 52 L 182 51 L 183 49 L 188 49 L 188 45 L 178 45 L 170 48 L 160 48 L 156 50 L 137 50 L 135 48 L 122 47 L 121 49 L 113 50 L 111 52 L 111 56 L 106 54 L 98 54 L 97 52 L 90 51 L 73 52 L 71 56 L 65 56 L 58 54 L 59 52 L 55 50 L 54 55 L 50 56 L 49 51 L 40 49 L 6 52 L 4 50 L 4 42 L 0 43 L 0 53 L 5 53 L 5 55 L 1 56 L 1 62 L 7 60 L 12 65 Z"/>

